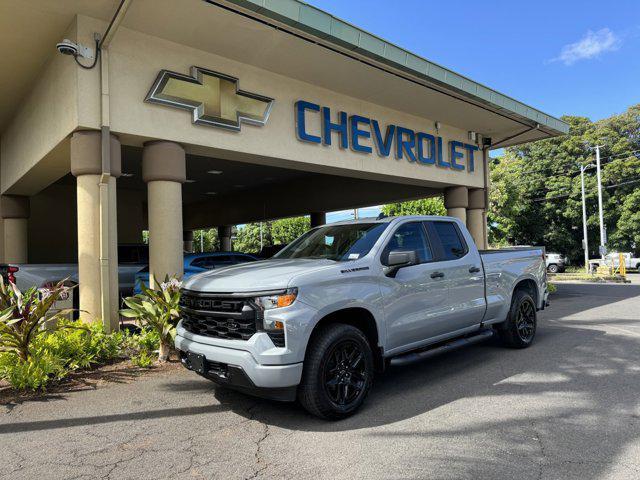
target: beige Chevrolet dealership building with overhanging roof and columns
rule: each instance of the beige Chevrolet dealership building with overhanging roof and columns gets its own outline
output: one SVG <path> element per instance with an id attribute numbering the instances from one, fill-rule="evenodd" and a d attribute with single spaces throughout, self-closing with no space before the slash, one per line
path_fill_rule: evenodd
<path id="1" fill-rule="evenodd" d="M 195 229 L 224 249 L 231 225 L 436 195 L 483 248 L 489 149 L 568 131 L 296 0 L 70 5 L 0 6 L 0 255 L 77 262 L 108 328 L 118 245 L 143 230 L 152 282 Z"/>

